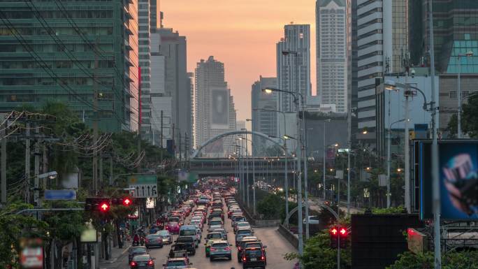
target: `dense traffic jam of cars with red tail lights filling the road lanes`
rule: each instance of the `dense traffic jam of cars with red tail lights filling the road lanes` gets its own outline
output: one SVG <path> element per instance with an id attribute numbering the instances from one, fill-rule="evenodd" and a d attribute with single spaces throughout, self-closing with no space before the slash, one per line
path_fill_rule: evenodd
<path id="1" fill-rule="evenodd" d="M 201 253 L 210 263 L 235 259 L 243 269 L 266 268 L 267 246 L 254 235 L 235 194 L 236 189 L 227 187 L 222 180 L 202 182 L 178 208 L 158 219 L 148 231 L 134 235 L 129 249 L 129 267 L 201 269 L 191 261 Z M 153 257 L 150 249 L 163 247 L 170 247 L 170 250 L 164 262 L 157 264 L 161 258 Z M 199 248 L 204 248 L 204 252 L 198 252 Z M 222 263 L 220 268 L 233 268 L 229 263 Z"/>

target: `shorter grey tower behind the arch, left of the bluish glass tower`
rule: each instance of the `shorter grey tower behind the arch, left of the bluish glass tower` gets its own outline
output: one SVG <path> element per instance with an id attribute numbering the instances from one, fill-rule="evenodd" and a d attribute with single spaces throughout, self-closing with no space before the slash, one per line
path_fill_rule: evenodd
<path id="1" fill-rule="evenodd" d="M 264 133 L 267 136 L 282 137 L 285 134 L 284 129 L 279 130 L 277 121 L 284 121 L 284 114 L 276 112 L 279 110 L 279 94 L 273 92 L 266 94 L 262 89 L 277 88 L 277 78 L 263 78 L 252 85 L 251 101 L 252 101 L 252 131 Z M 261 151 L 260 145 L 270 145 L 266 138 L 253 136 L 252 141 L 256 147 L 252 148 L 254 154 Z"/>

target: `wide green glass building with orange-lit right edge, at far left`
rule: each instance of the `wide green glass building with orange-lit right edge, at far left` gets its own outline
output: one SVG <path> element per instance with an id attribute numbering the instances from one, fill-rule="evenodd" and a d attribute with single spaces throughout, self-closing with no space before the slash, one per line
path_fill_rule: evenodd
<path id="1" fill-rule="evenodd" d="M 54 100 L 90 126 L 98 119 L 103 131 L 137 130 L 137 7 L 137 0 L 1 2 L 0 110 Z"/>

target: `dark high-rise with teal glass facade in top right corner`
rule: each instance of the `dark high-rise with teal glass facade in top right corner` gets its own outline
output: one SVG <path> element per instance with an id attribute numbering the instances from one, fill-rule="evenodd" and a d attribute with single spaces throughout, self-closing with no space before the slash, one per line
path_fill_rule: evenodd
<path id="1" fill-rule="evenodd" d="M 428 1 L 410 1 L 410 52 L 412 63 L 430 66 Z M 473 57 L 461 57 L 461 73 L 478 73 L 478 1 L 433 1 L 433 43 L 437 73 L 458 73 L 458 55 L 474 52 Z"/>

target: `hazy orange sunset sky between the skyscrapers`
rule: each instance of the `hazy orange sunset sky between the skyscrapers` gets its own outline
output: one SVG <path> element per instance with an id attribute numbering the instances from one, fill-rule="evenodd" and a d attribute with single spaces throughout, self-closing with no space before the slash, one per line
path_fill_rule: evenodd
<path id="1" fill-rule="evenodd" d="M 251 85 L 276 75 L 275 43 L 284 24 L 311 24 L 311 83 L 315 92 L 315 0 L 161 0 L 164 27 L 187 38 L 187 68 L 200 59 L 224 63 L 238 119 L 251 115 Z"/>

